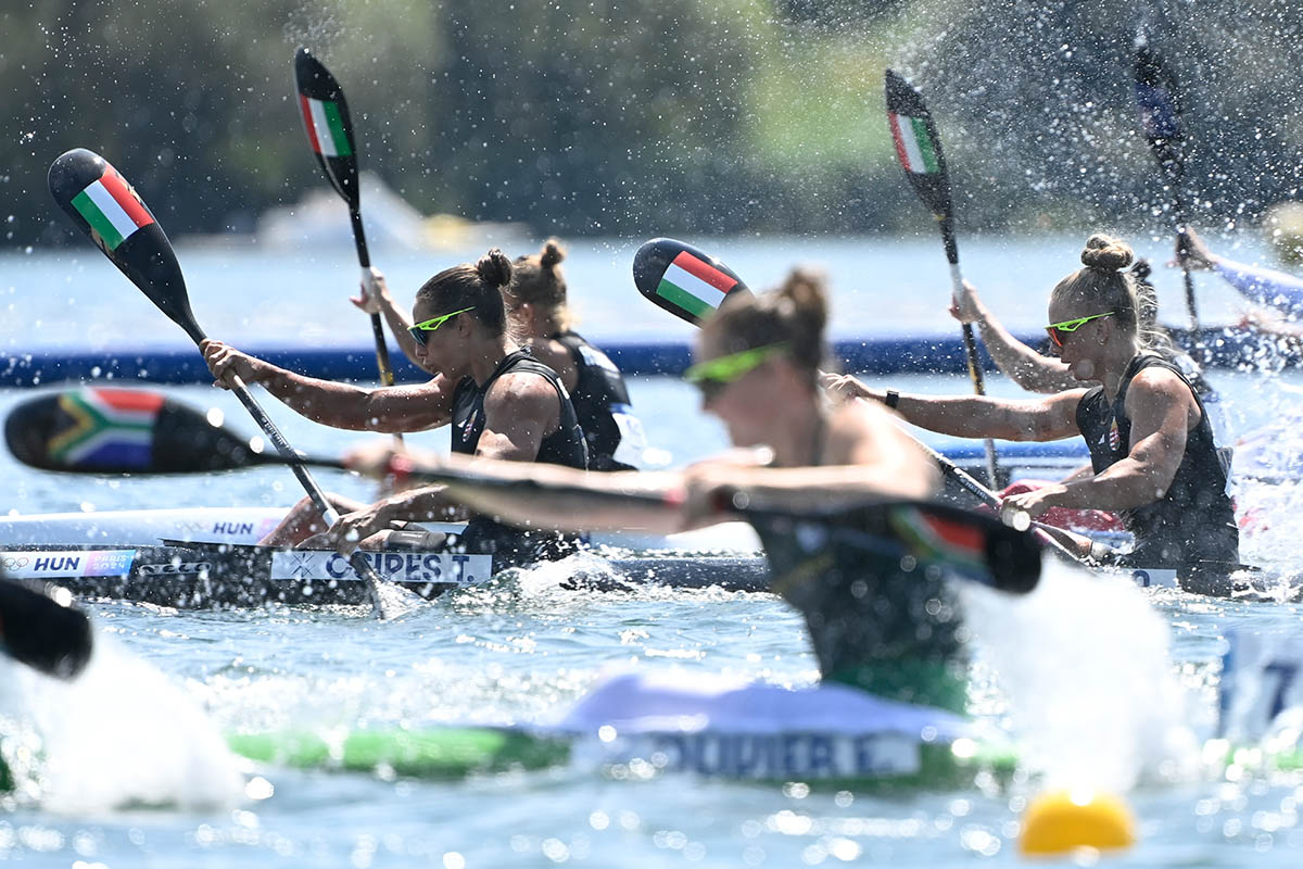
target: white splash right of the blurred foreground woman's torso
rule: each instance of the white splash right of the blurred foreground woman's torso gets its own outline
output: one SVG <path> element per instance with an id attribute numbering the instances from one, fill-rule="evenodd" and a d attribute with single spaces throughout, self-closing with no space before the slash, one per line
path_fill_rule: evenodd
<path id="1" fill-rule="evenodd" d="M 1019 753 L 1048 786 L 1123 791 L 1195 773 L 1167 624 L 1128 578 L 1046 558 L 1032 594 L 962 595 Z"/>

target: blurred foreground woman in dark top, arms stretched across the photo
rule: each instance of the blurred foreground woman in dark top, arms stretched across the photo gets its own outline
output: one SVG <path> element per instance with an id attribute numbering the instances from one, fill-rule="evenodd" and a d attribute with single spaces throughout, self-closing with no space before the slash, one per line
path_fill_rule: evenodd
<path id="1" fill-rule="evenodd" d="M 830 406 L 822 396 L 818 369 L 826 317 L 822 285 L 795 274 L 775 293 L 730 298 L 701 331 L 697 363 L 687 379 L 701 390 L 704 409 L 724 422 L 736 447 L 769 448 L 761 451 L 771 457 L 767 464 L 757 461 L 756 449 L 747 449 L 680 472 L 585 477 L 560 468 L 476 466 L 593 492 L 681 491 L 676 509 L 620 512 L 598 500 L 590 508 L 567 503 L 558 511 L 543 500 L 487 487 L 464 496 L 478 509 L 519 522 L 571 529 L 636 525 L 672 533 L 731 519 L 728 507 L 740 503 L 805 513 L 873 496 L 930 495 L 937 469 L 887 413 L 863 401 Z M 382 457 L 392 449 L 377 448 L 384 451 Z M 358 463 L 374 466 L 377 457 Z M 873 519 L 856 525 L 856 546 L 820 528 L 757 524 L 773 589 L 804 615 L 822 677 L 890 700 L 962 710 L 967 685 L 962 611 L 946 582 L 890 546 L 874 550 L 872 541 L 895 538 Z"/>

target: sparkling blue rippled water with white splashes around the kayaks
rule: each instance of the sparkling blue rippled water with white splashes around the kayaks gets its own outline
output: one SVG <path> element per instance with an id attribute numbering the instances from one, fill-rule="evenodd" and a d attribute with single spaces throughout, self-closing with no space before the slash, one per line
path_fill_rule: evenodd
<path id="1" fill-rule="evenodd" d="M 1042 319 L 1044 289 L 1071 263 L 1076 245 L 1048 240 L 1023 250 L 988 240 L 968 245 L 966 262 L 988 302 L 1031 328 Z M 572 250 L 571 281 L 589 331 L 687 335 L 633 297 L 625 278 L 632 249 L 594 242 Z M 838 334 L 952 328 L 938 310 L 945 267 L 932 238 L 735 240 L 719 249 L 761 287 L 791 259 L 826 263 Z M 874 262 L 872 288 L 865 287 L 865 257 Z M 396 289 L 400 280 L 414 287 L 443 264 L 377 259 Z M 195 313 L 214 335 L 296 343 L 361 331 L 366 340 L 365 326 L 341 298 L 352 281 L 344 258 L 182 249 L 181 262 Z M 10 352 L 126 347 L 145 336 L 180 343 L 180 332 L 95 251 L 7 257 L 4 266 L 13 307 L 0 323 L 0 340 Z M 1175 280 L 1162 278 L 1162 289 L 1177 298 Z M 1229 293 L 1203 285 L 1207 315 L 1234 319 Z M 890 321 L 885 310 L 893 311 Z M 1234 426 L 1247 431 L 1283 418 L 1298 400 L 1293 390 L 1300 378 L 1218 371 L 1213 382 Z M 967 390 L 955 378 L 893 378 L 891 386 Z M 992 390 L 1016 393 L 999 378 Z M 724 446 L 721 426 L 700 414 L 683 384 L 641 378 L 631 392 L 667 461 L 678 465 Z M 0 395 L 0 412 L 27 395 Z M 184 387 L 173 395 L 220 406 L 232 425 L 253 430 L 223 392 Z M 266 404 L 305 451 L 332 453 L 361 438 L 313 426 L 270 399 Z M 417 440 L 446 443 L 437 434 Z M 289 504 L 298 496 L 292 477 L 275 469 L 184 482 L 43 476 L 8 456 L 0 456 L 0 469 L 9 483 L 8 508 L 25 513 Z M 343 494 L 369 494 L 366 483 L 341 474 L 321 479 Z M 1293 490 L 1248 495 L 1248 506 L 1268 521 L 1246 541 L 1246 559 L 1298 564 Z M 529 720 L 580 697 L 611 667 L 672 670 L 684 679 L 726 672 L 792 687 L 816 679 L 800 619 L 770 598 L 655 589 L 592 595 L 560 589 L 555 573 L 469 590 L 386 624 L 360 610 L 214 614 L 90 605 L 103 654 L 83 683 L 56 687 L 0 662 L 0 718 L 39 728 L 61 758 L 59 765 L 51 760 L 57 769 L 46 770 L 40 787 L 0 803 L 0 859 L 38 866 L 296 868 L 1016 862 L 1019 818 L 1035 783 L 1007 792 L 886 797 L 680 776 L 612 780 L 581 769 L 434 783 L 249 769 L 220 749 L 222 732 L 289 724 L 332 732 L 405 722 Z M 1212 727 L 1214 662 L 1226 631 L 1287 632 L 1298 624 L 1299 606 L 1162 591 L 1145 598 L 1058 571 L 1050 578 L 1045 590 L 1016 605 L 969 595 L 981 640 L 975 711 L 997 724 L 1024 726 L 1029 753 L 1055 775 L 1131 788 L 1141 842 L 1122 864 L 1294 865 L 1303 844 L 1296 814 L 1303 782 L 1290 775 L 1226 780 L 1200 770 L 1183 739 Z"/>

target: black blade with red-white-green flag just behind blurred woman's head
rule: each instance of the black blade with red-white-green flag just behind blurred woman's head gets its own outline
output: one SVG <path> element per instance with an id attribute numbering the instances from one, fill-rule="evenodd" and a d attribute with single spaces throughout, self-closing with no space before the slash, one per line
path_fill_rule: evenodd
<path id="1" fill-rule="evenodd" d="M 654 304 L 696 326 L 726 298 L 751 294 L 732 268 L 674 238 L 653 238 L 638 248 L 633 284 Z"/>

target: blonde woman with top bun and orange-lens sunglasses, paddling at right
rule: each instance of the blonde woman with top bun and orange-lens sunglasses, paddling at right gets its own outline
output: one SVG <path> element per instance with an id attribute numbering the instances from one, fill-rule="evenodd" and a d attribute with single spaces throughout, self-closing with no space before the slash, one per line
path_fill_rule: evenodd
<path id="1" fill-rule="evenodd" d="M 1048 327 L 1074 379 L 1097 382 L 1033 400 L 904 396 L 853 378 L 829 386 L 895 408 L 915 425 L 966 438 L 1057 440 L 1081 435 L 1093 474 L 1011 495 L 1005 504 L 1040 516 L 1052 507 L 1117 511 L 1135 537 L 1128 554 L 1093 554 L 1143 567 L 1239 560 L 1226 470 L 1204 405 L 1173 363 L 1141 348 L 1135 281 L 1122 271 L 1131 248 L 1092 236 L 1084 268 L 1050 293 Z M 1088 542 L 1078 541 L 1084 551 Z"/>

